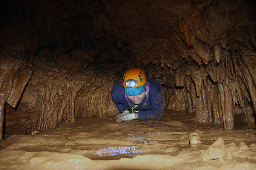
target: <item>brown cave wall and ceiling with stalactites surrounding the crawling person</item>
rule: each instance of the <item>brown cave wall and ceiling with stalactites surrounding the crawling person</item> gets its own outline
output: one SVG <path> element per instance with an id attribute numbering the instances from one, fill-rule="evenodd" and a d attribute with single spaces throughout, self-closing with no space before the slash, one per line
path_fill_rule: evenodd
<path id="1" fill-rule="evenodd" d="M 135 66 L 164 86 L 165 108 L 195 112 L 197 121 L 226 130 L 235 115 L 254 124 L 253 1 L 26 0 L 1 8 L 1 64 L 31 69 L 20 69 L 23 88 L 15 89 L 18 106 L 6 107 L 7 133 L 117 114 L 111 88 Z M 1 70 L 2 81 L 9 71 Z"/>

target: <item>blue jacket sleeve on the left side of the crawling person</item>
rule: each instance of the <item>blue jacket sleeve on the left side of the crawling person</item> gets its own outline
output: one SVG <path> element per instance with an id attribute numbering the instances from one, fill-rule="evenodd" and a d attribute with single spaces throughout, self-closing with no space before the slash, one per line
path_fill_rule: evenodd
<path id="1" fill-rule="evenodd" d="M 115 106 L 118 108 L 120 112 L 124 112 L 125 110 L 128 110 L 129 108 L 124 105 L 124 90 L 122 90 L 121 82 L 118 82 L 115 84 L 112 88 L 111 95 L 112 100 L 115 103 Z"/>

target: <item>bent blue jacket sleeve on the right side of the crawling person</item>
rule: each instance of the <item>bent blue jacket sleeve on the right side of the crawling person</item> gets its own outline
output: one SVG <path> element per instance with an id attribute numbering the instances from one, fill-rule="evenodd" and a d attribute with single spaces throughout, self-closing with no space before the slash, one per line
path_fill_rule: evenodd
<path id="1" fill-rule="evenodd" d="M 157 90 L 156 94 L 150 94 L 151 109 L 146 111 L 138 111 L 138 120 L 158 120 L 163 115 L 163 96 L 164 91 L 162 86 Z M 154 97 L 156 96 L 156 97 Z"/>

